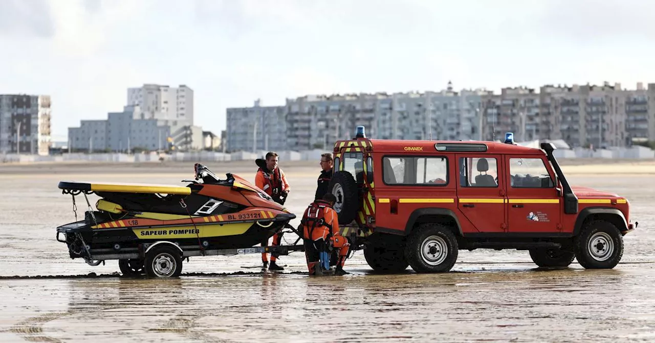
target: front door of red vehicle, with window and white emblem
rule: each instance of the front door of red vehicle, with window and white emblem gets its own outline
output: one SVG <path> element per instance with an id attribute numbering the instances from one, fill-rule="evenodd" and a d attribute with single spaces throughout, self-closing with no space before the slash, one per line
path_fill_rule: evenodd
<path id="1" fill-rule="evenodd" d="M 555 177 L 542 156 L 506 155 L 508 229 L 510 232 L 557 232 L 561 201 Z"/>

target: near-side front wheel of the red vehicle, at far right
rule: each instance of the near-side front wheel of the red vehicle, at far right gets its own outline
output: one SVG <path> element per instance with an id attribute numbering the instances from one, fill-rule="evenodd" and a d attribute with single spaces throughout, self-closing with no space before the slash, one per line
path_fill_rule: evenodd
<path id="1" fill-rule="evenodd" d="M 578 262 L 586 269 L 612 269 L 623 256 L 623 237 L 609 221 L 591 221 L 574 238 Z"/>

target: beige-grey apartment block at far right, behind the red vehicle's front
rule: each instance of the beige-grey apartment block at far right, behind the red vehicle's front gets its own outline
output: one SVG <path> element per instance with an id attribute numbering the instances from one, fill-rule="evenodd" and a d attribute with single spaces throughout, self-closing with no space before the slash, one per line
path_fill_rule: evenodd
<path id="1" fill-rule="evenodd" d="M 570 146 L 627 146 L 655 140 L 655 84 L 625 90 L 620 84 L 504 88 L 483 97 L 485 140 L 562 139 Z"/>

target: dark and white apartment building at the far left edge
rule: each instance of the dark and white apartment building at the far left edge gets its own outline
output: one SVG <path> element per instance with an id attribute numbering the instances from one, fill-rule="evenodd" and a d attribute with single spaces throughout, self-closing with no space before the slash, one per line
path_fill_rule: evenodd
<path id="1" fill-rule="evenodd" d="M 49 95 L 0 95 L 0 152 L 48 155 Z"/>

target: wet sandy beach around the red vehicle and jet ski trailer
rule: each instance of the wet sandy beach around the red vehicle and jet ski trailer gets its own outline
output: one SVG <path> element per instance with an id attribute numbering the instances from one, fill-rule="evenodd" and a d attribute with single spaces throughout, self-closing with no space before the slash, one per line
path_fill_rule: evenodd
<path id="1" fill-rule="evenodd" d="M 286 168 L 288 204 L 297 214 L 313 195 L 317 164 Z M 250 163 L 207 165 L 219 176 L 227 171 L 254 176 Z M 193 163 L 0 166 L 0 340 L 655 340 L 649 213 L 655 164 L 569 163 L 565 171 L 572 184 L 620 193 L 631 202 L 639 227 L 624 237 L 624 257 L 615 269 L 585 270 L 574 262 L 568 269 L 540 270 L 527 252 L 475 250 L 460 251 L 453 272 L 426 275 L 408 268 L 389 276 L 374 274 L 356 252 L 346 262 L 352 274 L 310 278 L 297 252 L 280 257 L 286 270 L 278 274 L 244 268 L 259 265 L 260 256 L 252 254 L 192 257 L 180 278 L 148 280 L 119 277 L 117 261 L 91 267 L 67 257 L 54 228 L 75 217 L 71 197 L 56 185 L 60 180 L 181 184 L 193 177 Z M 83 216 L 84 198 L 76 199 Z M 90 203 L 96 199 L 90 197 Z"/>

